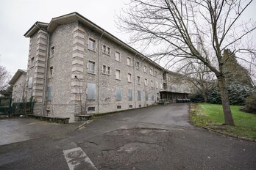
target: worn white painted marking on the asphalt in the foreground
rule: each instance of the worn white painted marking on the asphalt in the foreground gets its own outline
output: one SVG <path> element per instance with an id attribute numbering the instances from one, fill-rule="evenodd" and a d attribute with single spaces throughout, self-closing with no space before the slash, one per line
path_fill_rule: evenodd
<path id="1" fill-rule="evenodd" d="M 63 150 L 63 155 L 68 163 L 70 170 L 74 169 L 93 169 L 98 170 L 92 163 L 88 155 L 80 148 Z"/>

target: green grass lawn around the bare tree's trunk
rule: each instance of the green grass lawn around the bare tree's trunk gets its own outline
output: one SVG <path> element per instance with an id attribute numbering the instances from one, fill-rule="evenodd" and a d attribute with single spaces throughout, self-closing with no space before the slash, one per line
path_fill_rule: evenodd
<path id="1" fill-rule="evenodd" d="M 241 106 L 231 106 L 235 127 L 223 125 L 224 114 L 221 105 L 210 103 L 191 104 L 191 120 L 194 125 L 211 127 L 235 136 L 256 138 L 256 114 L 239 111 Z"/>

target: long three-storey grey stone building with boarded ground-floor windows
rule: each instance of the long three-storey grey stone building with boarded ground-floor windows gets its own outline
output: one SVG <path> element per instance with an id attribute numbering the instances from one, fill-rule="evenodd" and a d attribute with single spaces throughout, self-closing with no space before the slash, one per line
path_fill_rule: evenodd
<path id="1" fill-rule="evenodd" d="M 151 106 L 160 93 L 173 94 L 173 73 L 77 12 L 36 22 L 24 36 L 30 38 L 26 99 L 35 100 L 34 114 L 74 122 L 79 114 Z M 187 97 L 189 89 L 176 93 Z"/>

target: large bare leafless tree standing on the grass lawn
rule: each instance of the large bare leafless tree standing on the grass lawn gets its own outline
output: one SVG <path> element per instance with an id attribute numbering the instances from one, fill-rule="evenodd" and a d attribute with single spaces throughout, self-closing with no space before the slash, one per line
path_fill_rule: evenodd
<path id="1" fill-rule="evenodd" d="M 132 34 L 131 42 L 149 47 L 149 57 L 165 59 L 174 66 L 186 59 L 207 66 L 218 80 L 225 125 L 235 125 L 223 71 L 229 57 L 224 59 L 223 51 L 229 48 L 232 53 L 255 56 L 252 44 L 243 43 L 255 30 L 255 21 L 241 21 L 251 3 L 252 0 L 132 0 L 118 23 L 123 31 Z"/>

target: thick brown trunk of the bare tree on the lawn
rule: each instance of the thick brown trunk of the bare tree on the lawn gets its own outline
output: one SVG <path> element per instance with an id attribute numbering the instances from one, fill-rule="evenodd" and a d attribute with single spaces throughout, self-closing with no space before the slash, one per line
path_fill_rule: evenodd
<path id="1" fill-rule="evenodd" d="M 222 108 L 224 112 L 225 125 L 235 126 L 232 113 L 230 110 L 230 100 L 227 93 L 227 86 L 226 86 L 225 78 L 223 76 L 218 77 L 218 87 L 221 92 L 221 103 L 222 103 Z"/>

